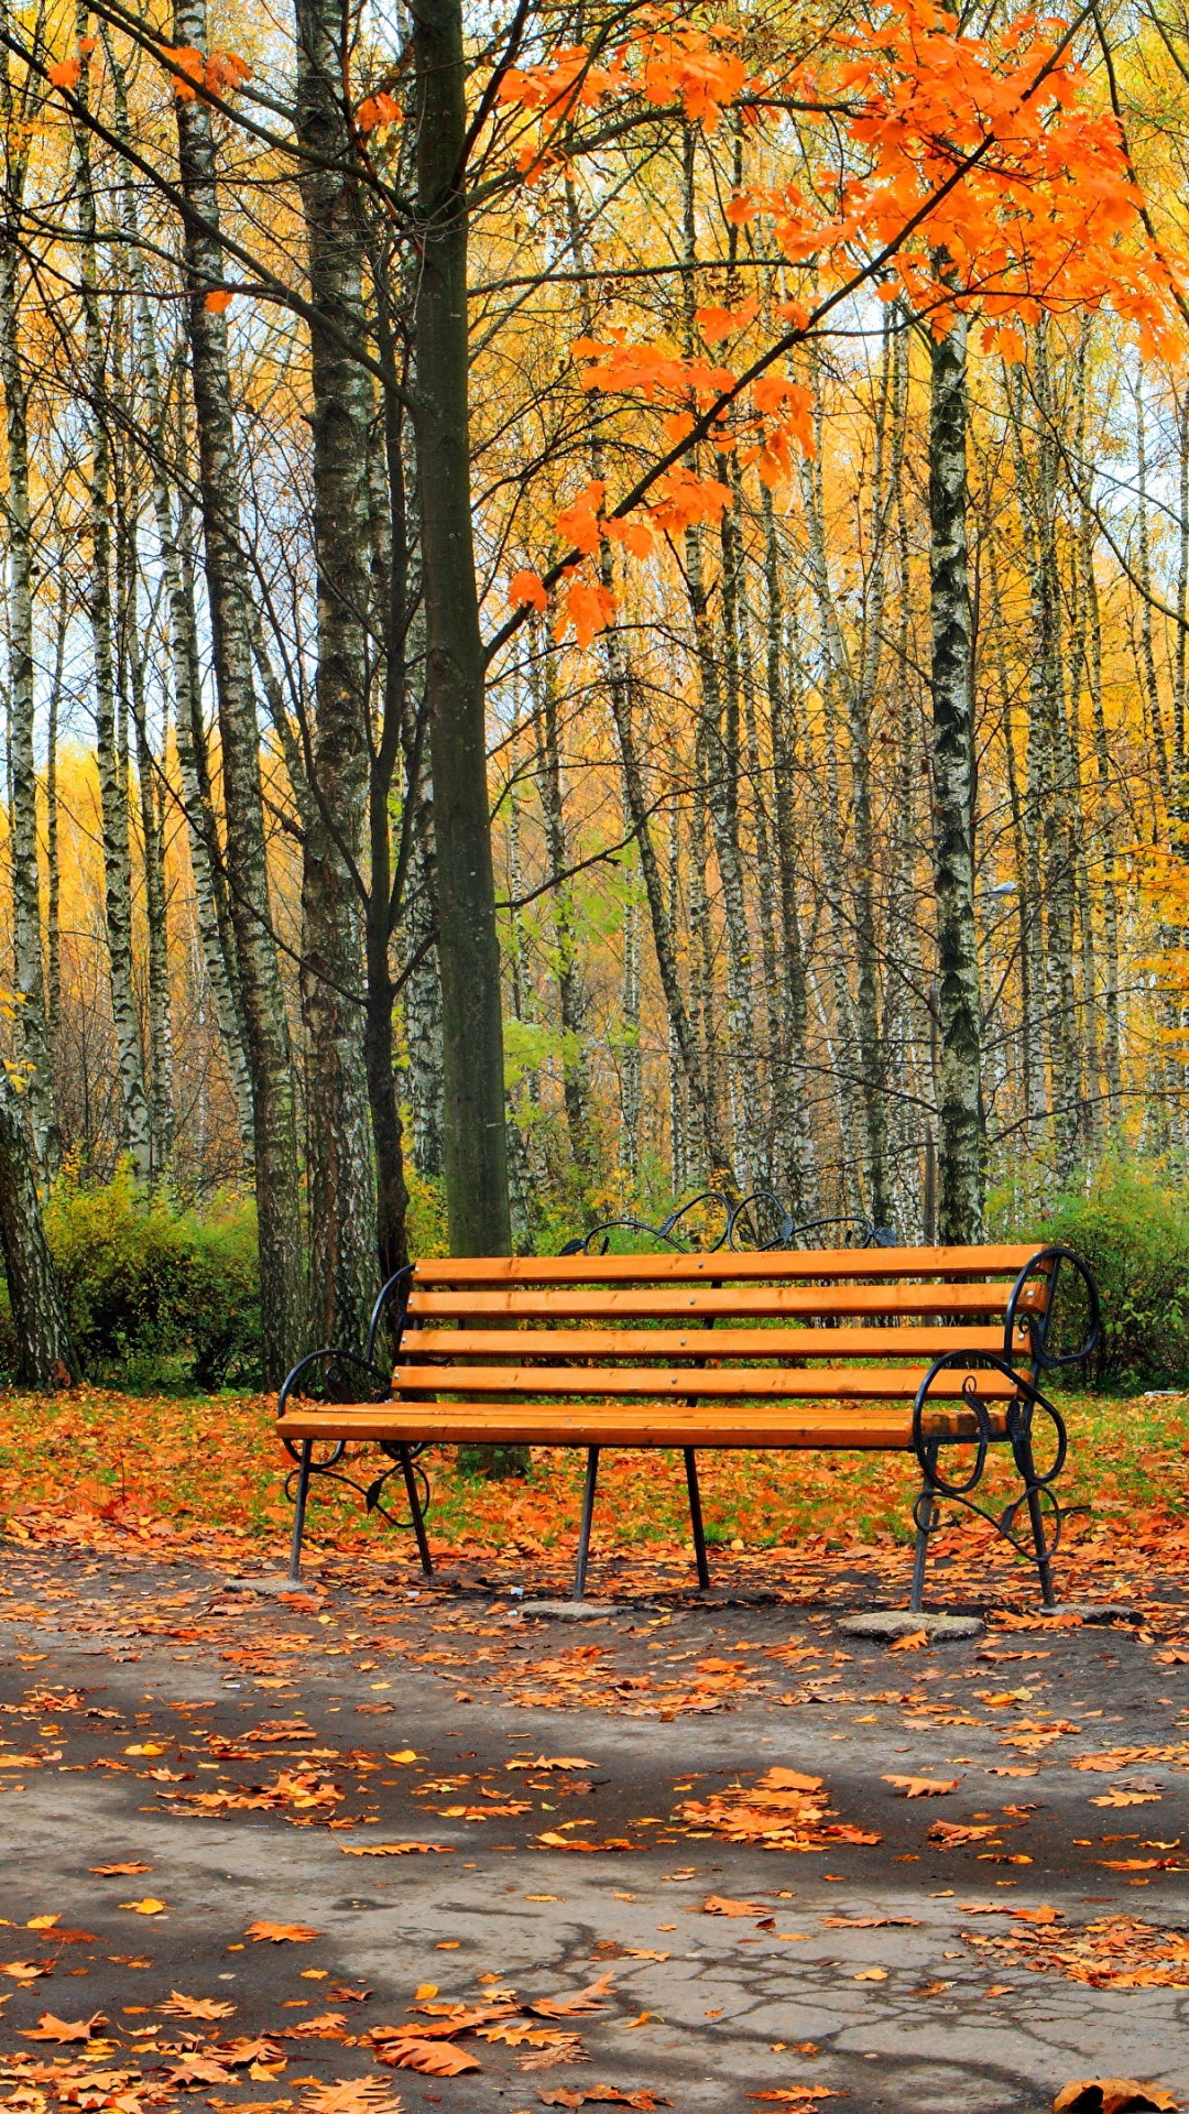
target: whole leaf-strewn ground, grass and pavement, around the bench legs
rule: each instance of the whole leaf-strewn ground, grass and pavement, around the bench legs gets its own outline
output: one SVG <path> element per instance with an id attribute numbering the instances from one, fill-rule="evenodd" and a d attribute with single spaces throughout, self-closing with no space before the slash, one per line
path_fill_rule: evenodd
<path id="1" fill-rule="evenodd" d="M 749 1543 L 705 1596 L 677 1478 L 609 1463 L 575 1626 L 520 1607 L 567 1583 L 565 1461 L 434 1463 L 432 1581 L 315 1509 L 277 1596 L 235 1583 L 281 1556 L 260 1404 L 2 1404 L 0 2097 L 1189 2101 L 1189 1402 L 1071 1408 L 1062 1611 L 963 1526 L 931 1605 L 984 1634 L 880 1647 L 838 1619 L 903 1605 L 901 1463 L 709 1461 Z"/>

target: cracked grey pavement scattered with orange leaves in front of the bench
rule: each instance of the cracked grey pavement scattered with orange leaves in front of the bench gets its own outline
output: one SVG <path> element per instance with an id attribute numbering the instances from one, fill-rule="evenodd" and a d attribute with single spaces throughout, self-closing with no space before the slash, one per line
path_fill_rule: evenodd
<path id="1" fill-rule="evenodd" d="M 199 2038 L 343 2021 L 283 2038 L 283 2070 L 182 2091 L 218 2110 L 362 2076 L 463 2114 L 597 2084 L 740 2114 L 1028 2114 L 1077 2076 L 1189 2099 L 1176 1609 L 893 1651 L 840 1636 L 834 1607 L 730 1596 L 573 1626 L 449 1586 L 413 1600 L 404 1573 L 264 1602 L 193 1562 L 47 1552 L 6 1583 L 0 1966 L 51 1970 L 0 1983 L 6 2051 L 47 2008 L 102 2010 L 108 2067 L 140 2046 L 152 2082 L 182 1991 L 235 2006 Z M 152 1634 L 169 1602 L 190 1634 Z M 772 1769 L 823 1780 L 819 1818 L 789 1824 L 810 1848 L 755 1835 Z M 552 2044 L 377 2070 L 364 2036 L 440 2017 L 417 2002 L 506 1989 L 546 2006 L 529 2029 Z"/>

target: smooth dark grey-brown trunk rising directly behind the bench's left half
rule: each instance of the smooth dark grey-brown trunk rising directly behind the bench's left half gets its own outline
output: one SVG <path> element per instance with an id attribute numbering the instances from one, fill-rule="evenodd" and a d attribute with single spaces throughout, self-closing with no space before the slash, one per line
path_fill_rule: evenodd
<path id="1" fill-rule="evenodd" d="M 461 1256 L 506 1256 L 508 1135 L 487 799 L 484 662 L 468 410 L 461 0 L 413 0 L 417 70 L 415 431 L 438 843 L 446 1209 Z"/>

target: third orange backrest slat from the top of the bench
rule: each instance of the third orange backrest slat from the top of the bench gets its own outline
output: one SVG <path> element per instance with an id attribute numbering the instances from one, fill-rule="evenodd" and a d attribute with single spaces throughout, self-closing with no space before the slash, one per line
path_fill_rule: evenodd
<path id="1" fill-rule="evenodd" d="M 980 1328 L 410 1328 L 404 1332 L 402 1366 L 413 1357 L 939 1357 L 961 1345 L 965 1351 L 1003 1351 L 1003 1323 Z M 408 1380 L 413 1385 L 413 1380 Z"/>

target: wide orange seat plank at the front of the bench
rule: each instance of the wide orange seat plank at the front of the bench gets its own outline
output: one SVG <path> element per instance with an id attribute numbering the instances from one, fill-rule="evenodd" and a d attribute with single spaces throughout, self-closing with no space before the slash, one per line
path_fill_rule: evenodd
<path id="1" fill-rule="evenodd" d="M 990 1414 L 994 1438 L 1003 1438 L 1003 1412 Z M 288 1440 L 353 1438 L 404 1440 L 406 1444 L 529 1444 L 529 1446 L 709 1446 L 709 1448 L 857 1448 L 863 1452 L 903 1452 L 912 1446 L 912 1416 L 895 1412 L 846 1412 L 827 1406 L 804 1410 L 732 1412 L 683 1410 L 660 1404 L 656 1410 L 633 1406 L 565 1410 L 537 1404 L 508 1410 L 491 1404 L 449 1404 L 442 1408 L 417 1404 L 379 1404 L 328 1410 L 288 1410 L 277 1421 Z M 939 1440 L 973 1438 L 975 1421 L 954 1408 L 933 1410 L 929 1435 Z"/>

